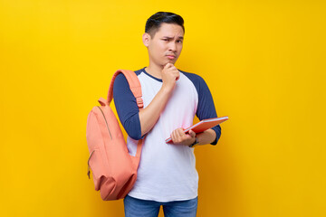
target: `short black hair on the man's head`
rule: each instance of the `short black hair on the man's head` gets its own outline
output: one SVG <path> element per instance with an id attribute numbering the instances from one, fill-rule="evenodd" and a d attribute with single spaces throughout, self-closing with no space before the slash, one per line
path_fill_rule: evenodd
<path id="1" fill-rule="evenodd" d="M 178 14 L 170 12 L 158 12 L 149 17 L 145 25 L 145 33 L 149 33 L 150 37 L 154 37 L 155 33 L 158 32 L 161 24 L 178 24 L 182 27 L 185 33 L 184 20 Z"/>

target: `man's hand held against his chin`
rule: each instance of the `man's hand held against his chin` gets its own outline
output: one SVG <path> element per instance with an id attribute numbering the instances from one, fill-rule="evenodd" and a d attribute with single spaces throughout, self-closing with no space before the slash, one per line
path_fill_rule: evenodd
<path id="1" fill-rule="evenodd" d="M 179 77 L 180 72 L 172 63 L 168 62 L 162 70 L 162 88 L 173 90 Z"/>

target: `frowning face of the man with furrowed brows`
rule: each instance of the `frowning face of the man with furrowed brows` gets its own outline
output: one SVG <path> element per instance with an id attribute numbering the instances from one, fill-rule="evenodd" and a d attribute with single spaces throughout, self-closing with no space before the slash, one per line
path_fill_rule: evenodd
<path id="1" fill-rule="evenodd" d="M 149 36 L 149 61 L 164 67 L 168 62 L 175 64 L 184 40 L 184 31 L 177 24 L 161 24 L 153 38 Z"/>

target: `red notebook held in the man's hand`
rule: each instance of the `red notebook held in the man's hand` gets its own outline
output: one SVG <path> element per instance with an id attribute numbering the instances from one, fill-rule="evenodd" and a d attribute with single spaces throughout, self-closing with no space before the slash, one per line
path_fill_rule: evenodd
<path id="1" fill-rule="evenodd" d="M 187 129 L 185 129 L 184 132 L 187 133 L 191 129 L 195 133 L 201 133 L 204 132 L 206 129 L 209 129 L 211 127 L 216 127 L 216 125 L 225 122 L 225 120 L 228 120 L 228 116 L 221 117 L 221 118 L 203 119 L 200 122 L 198 122 L 196 125 L 187 127 Z M 172 141 L 171 137 L 166 139 L 166 143 L 171 141 Z"/>

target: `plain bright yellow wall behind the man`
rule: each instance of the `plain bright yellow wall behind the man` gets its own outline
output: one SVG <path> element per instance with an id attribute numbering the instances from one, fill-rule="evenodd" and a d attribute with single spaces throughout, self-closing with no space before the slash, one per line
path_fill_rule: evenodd
<path id="1" fill-rule="evenodd" d="M 326 216 L 317 0 L 0 0 L 1 215 L 123 216 L 86 175 L 86 118 L 114 71 L 148 65 L 141 34 L 158 11 L 184 17 L 177 68 L 230 118 L 196 148 L 197 216 Z"/>

